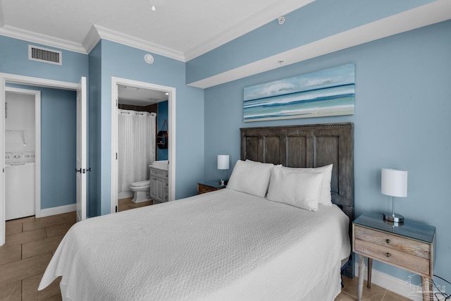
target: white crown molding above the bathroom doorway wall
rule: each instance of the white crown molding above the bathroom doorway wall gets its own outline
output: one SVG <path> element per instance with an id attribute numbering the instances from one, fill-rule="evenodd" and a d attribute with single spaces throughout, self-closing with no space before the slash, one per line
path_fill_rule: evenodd
<path id="1" fill-rule="evenodd" d="M 117 32 L 115 30 L 111 30 L 109 28 L 106 28 L 106 27 L 103 27 L 100 25 L 94 24 L 92 26 L 92 28 L 94 28 L 97 31 L 97 35 L 99 36 L 100 39 L 108 39 L 109 41 L 112 41 L 112 42 L 124 44 L 124 45 L 130 46 L 130 47 L 135 47 L 137 49 L 142 49 L 145 51 L 150 51 L 154 54 L 159 54 L 161 56 L 166 56 L 171 59 L 185 62 L 185 55 L 181 51 L 176 51 L 174 49 L 164 47 L 159 44 L 154 44 L 154 43 L 148 42 L 144 39 L 139 39 L 137 37 L 125 35 L 122 32 Z M 91 30 L 89 30 L 89 34 L 91 36 L 94 36 L 92 28 L 91 28 Z M 94 46 L 95 46 L 95 44 L 94 44 Z"/>

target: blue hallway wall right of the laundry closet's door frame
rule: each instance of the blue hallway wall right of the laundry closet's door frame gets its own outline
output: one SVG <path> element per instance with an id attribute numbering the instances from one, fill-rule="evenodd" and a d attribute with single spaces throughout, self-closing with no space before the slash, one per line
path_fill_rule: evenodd
<path id="1" fill-rule="evenodd" d="M 75 204 L 76 93 L 7 86 L 41 91 L 41 209 Z"/>

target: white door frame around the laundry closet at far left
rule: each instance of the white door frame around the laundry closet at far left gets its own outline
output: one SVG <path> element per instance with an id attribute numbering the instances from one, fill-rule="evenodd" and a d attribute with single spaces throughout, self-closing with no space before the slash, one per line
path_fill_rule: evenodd
<path id="1" fill-rule="evenodd" d="M 5 92 L 33 95 L 35 97 L 35 216 L 42 217 L 42 212 L 41 212 L 41 91 L 30 90 L 30 89 L 25 89 L 25 88 L 5 87 Z M 5 101 L 6 101 L 6 95 L 5 95 Z"/>

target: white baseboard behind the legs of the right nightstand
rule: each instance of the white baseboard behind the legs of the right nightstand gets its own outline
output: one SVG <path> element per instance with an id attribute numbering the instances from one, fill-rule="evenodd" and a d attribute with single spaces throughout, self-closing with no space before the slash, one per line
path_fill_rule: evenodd
<path id="1" fill-rule="evenodd" d="M 356 276 L 359 275 L 359 264 L 355 264 L 355 272 Z M 366 272 L 365 266 L 365 280 L 367 279 L 368 273 Z M 385 274 L 381 271 L 373 269 L 371 274 L 371 283 L 381 286 L 386 290 L 391 290 L 393 293 L 397 293 L 398 295 L 402 295 L 403 297 L 407 297 L 410 300 L 421 301 L 423 300 L 423 296 L 421 295 L 421 286 L 414 285 L 412 283 L 407 283 L 406 280 L 401 280 L 400 278 L 396 278 Z"/>

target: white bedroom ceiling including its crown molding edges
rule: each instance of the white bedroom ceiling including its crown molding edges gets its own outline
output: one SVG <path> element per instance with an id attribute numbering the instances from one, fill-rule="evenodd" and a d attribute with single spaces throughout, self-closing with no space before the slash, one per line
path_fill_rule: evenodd
<path id="1" fill-rule="evenodd" d="M 163 4 L 152 11 L 150 1 Z M 0 0 L 0 34 L 84 53 L 98 42 L 93 32 L 116 35 L 188 61 L 311 1 Z"/>

